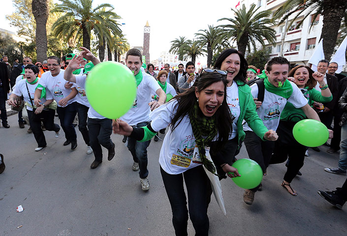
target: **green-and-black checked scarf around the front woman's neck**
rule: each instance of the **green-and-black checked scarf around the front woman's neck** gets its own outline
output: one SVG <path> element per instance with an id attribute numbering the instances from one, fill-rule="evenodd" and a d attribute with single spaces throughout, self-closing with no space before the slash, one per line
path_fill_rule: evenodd
<path id="1" fill-rule="evenodd" d="M 205 151 L 205 145 L 209 145 L 217 135 L 216 118 L 215 116 L 205 117 L 198 103 L 195 102 L 193 109 L 189 111 L 189 119 L 195 137 L 195 143 L 199 148 L 202 164 L 209 172 L 217 176 L 216 168 L 213 163 L 206 158 Z"/>

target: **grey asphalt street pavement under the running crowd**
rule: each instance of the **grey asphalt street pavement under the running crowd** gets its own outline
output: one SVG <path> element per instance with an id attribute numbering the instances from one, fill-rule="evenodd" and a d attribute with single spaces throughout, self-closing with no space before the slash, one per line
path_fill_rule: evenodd
<path id="1" fill-rule="evenodd" d="M 104 158 L 94 170 L 93 154 L 86 154 L 81 133 L 78 147 L 63 146 L 59 138 L 44 131 L 48 146 L 35 152 L 32 134 L 18 127 L 17 115 L 8 118 L 10 128 L 0 127 L 0 153 L 5 171 L 0 175 L 1 236 L 173 236 L 172 214 L 159 172 L 162 142 L 148 148 L 150 190 L 143 192 L 138 172 L 131 170 L 132 157 L 122 136 L 112 134 L 116 155 Z M 58 118 L 56 122 L 59 123 Z M 159 134 L 163 138 L 162 134 Z M 323 200 L 317 190 L 342 186 L 346 176 L 325 172 L 336 167 L 339 154 L 310 149 L 292 181 L 298 196 L 291 196 L 280 184 L 284 164 L 270 166 L 263 178 L 263 190 L 255 194 L 252 206 L 243 202 L 244 190 L 228 178 L 221 181 L 226 215 L 211 199 L 208 215 L 211 236 L 316 236 L 347 234 L 347 204 L 339 210 Z M 243 147 L 237 158 L 247 158 Z M 16 212 L 22 205 L 24 211 Z M 17 229 L 17 227 L 22 226 Z M 189 236 L 194 229 L 189 220 Z"/>

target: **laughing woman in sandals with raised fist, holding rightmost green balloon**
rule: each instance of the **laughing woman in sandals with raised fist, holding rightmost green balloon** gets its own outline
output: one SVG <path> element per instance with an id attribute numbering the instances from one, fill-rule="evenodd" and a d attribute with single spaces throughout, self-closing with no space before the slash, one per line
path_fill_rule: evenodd
<path id="1" fill-rule="evenodd" d="M 301 90 L 305 99 L 308 101 L 308 104 L 306 105 L 307 107 L 313 105 L 313 101 L 329 102 L 332 100 L 332 94 L 324 82 L 323 74 L 314 72 L 308 66 L 298 65 L 291 69 L 288 76 L 294 78 L 295 86 Z M 319 84 L 321 91 L 314 89 L 316 83 Z M 328 136 L 331 138 L 333 135 L 332 130 L 327 130 L 322 123 L 317 122 L 320 121 L 319 117 L 311 107 L 309 111 L 310 113 L 308 114 L 305 109 L 297 108 L 290 101 L 285 104 L 277 129 L 280 138 L 275 143 L 275 148 L 270 161 L 270 164 L 277 164 L 283 163 L 289 159 L 289 162 L 287 163 L 287 171 L 284 174 L 284 180 L 281 185 L 293 196 L 297 196 L 297 192 L 290 186 L 290 183 L 304 165 L 306 146 L 320 146 L 326 142 Z M 306 118 L 315 120 L 304 120 Z M 295 125 L 300 120 L 306 121 L 309 126 L 306 127 L 306 132 L 303 130 L 304 133 L 298 131 L 298 136 L 295 138 Z M 323 130 L 318 130 L 319 132 L 317 135 L 305 137 L 309 132 L 311 132 L 311 130 L 318 128 L 320 125 L 323 127 Z M 324 129 L 326 130 L 326 135 L 324 135 Z M 321 144 L 317 145 L 320 142 L 320 139 L 324 139 L 324 137 L 325 140 L 323 140 Z"/>

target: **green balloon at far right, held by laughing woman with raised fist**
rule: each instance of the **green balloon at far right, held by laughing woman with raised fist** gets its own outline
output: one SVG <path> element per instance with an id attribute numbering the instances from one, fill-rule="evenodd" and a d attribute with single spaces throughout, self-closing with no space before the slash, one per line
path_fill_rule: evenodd
<path id="1" fill-rule="evenodd" d="M 306 147 L 318 147 L 328 140 L 329 131 L 318 120 L 303 119 L 294 125 L 293 136 L 298 143 Z"/>

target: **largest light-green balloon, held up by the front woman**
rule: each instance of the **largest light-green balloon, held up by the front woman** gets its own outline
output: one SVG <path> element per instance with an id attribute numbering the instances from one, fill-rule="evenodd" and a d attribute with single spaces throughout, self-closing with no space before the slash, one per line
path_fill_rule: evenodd
<path id="1" fill-rule="evenodd" d="M 86 95 L 91 106 L 101 116 L 120 118 L 134 103 L 135 77 L 122 63 L 101 62 L 88 74 Z"/>

